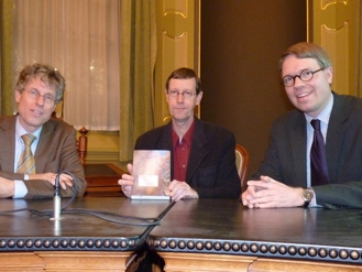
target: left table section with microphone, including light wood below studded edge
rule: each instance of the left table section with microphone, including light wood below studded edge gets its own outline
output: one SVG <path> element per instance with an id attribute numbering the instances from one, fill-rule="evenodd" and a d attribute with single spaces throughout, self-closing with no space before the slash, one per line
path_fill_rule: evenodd
<path id="1" fill-rule="evenodd" d="M 63 206 L 68 198 L 62 199 Z M 0 215 L 0 263 L 7 271 L 125 271 L 153 226 L 132 218 L 108 218 L 89 213 L 107 211 L 124 217 L 162 217 L 169 202 L 140 202 L 125 197 L 83 197 L 51 220 L 28 210 Z M 53 210 L 53 200 L 0 199 L 0 211 Z M 83 213 L 76 213 L 76 211 Z M 103 215 L 105 216 L 105 215 Z"/>

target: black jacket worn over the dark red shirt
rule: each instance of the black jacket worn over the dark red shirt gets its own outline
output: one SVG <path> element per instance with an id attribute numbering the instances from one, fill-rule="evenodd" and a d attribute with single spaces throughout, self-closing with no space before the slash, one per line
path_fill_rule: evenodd
<path id="1" fill-rule="evenodd" d="M 141 135 L 136 150 L 169 150 L 174 178 L 172 121 Z M 196 119 L 186 182 L 200 198 L 238 198 L 241 183 L 235 166 L 234 135 L 220 127 Z"/>

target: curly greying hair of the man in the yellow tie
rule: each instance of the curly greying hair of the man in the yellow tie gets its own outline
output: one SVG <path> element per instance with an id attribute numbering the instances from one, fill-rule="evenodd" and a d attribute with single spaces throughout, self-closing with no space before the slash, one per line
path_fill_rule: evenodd
<path id="1" fill-rule="evenodd" d="M 56 90 L 55 104 L 58 104 L 63 98 L 65 89 L 65 79 L 58 70 L 45 64 L 34 63 L 26 65 L 20 72 L 15 89 L 23 93 L 25 85 L 34 77 L 41 76 L 41 80 L 52 86 Z"/>

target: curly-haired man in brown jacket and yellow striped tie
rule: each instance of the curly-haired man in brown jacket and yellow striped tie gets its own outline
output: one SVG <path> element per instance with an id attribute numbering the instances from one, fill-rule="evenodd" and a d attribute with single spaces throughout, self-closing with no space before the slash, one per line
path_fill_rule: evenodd
<path id="1" fill-rule="evenodd" d="M 69 197 L 77 189 L 83 196 L 87 185 L 80 163 L 76 130 L 64 121 L 51 119 L 65 88 L 63 76 L 53 67 L 28 65 L 20 73 L 15 100 L 18 115 L 0 117 L 0 197 L 50 198 L 54 196 L 56 175 L 61 174 L 61 195 Z M 26 157 L 26 141 L 34 138 Z M 31 163 L 29 170 L 21 164 Z M 22 161 L 22 163 L 20 163 Z"/>

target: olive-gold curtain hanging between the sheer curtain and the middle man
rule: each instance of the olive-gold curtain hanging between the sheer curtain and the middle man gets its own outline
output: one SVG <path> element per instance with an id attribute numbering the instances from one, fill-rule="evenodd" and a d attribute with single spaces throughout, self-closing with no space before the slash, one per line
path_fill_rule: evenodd
<path id="1" fill-rule="evenodd" d="M 135 140 L 154 128 L 155 0 L 121 1 L 120 161 L 132 159 Z"/>

